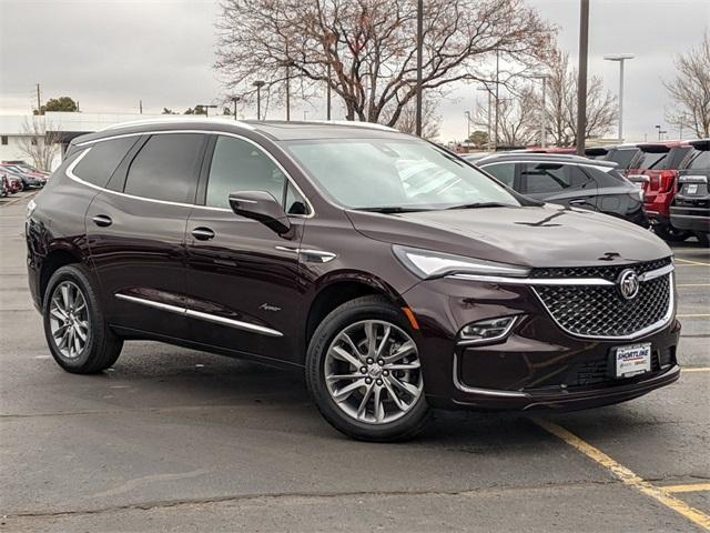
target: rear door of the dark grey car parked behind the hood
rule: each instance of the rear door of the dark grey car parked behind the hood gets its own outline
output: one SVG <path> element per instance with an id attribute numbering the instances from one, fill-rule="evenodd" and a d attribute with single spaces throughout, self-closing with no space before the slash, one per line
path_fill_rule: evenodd
<path id="1" fill-rule="evenodd" d="M 597 210 L 597 182 L 578 165 L 525 162 L 520 165 L 520 192 L 536 200 Z"/>

